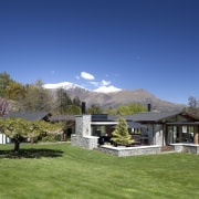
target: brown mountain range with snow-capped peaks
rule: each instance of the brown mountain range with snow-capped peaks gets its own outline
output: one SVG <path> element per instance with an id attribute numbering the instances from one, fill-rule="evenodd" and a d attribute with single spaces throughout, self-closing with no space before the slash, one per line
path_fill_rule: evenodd
<path id="1" fill-rule="evenodd" d="M 103 90 L 101 87 L 101 90 L 90 91 L 70 82 L 44 84 L 43 87 L 50 90 L 52 93 L 55 93 L 59 88 L 63 88 L 71 98 L 78 96 L 82 102 L 86 103 L 87 107 L 90 107 L 92 104 L 95 104 L 102 108 L 114 108 L 119 105 L 129 104 L 142 104 L 147 107 L 147 105 L 150 104 L 153 109 L 161 112 L 181 111 L 186 107 L 185 104 L 177 104 L 160 100 L 144 88 L 127 91 L 118 88 L 114 90 L 114 87 L 111 90 L 106 90 L 107 87 L 104 87 Z"/>

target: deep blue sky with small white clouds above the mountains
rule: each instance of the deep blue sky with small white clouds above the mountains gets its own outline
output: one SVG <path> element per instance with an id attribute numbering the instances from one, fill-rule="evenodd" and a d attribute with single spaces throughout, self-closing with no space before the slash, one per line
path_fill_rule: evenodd
<path id="1" fill-rule="evenodd" d="M 1 0 L 0 72 L 187 104 L 199 98 L 199 1 Z"/>

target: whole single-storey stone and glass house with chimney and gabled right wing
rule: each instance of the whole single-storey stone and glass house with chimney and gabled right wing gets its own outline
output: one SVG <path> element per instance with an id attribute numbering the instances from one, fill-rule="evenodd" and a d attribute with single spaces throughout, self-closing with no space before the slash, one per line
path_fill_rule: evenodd
<path id="1" fill-rule="evenodd" d="M 199 118 L 186 112 L 145 112 L 125 119 L 129 134 L 138 137 L 140 145 L 199 144 Z M 76 116 L 72 145 L 94 148 L 101 137 L 109 142 L 116 124 L 116 116 L 106 114 Z"/>

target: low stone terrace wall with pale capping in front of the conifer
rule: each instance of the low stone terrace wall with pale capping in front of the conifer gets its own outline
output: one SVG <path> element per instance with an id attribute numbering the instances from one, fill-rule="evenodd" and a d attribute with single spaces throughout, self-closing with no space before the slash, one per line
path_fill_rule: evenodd
<path id="1" fill-rule="evenodd" d="M 104 151 L 105 154 L 115 155 L 118 157 L 125 157 L 125 156 L 159 154 L 161 151 L 161 146 L 153 145 L 153 146 L 142 146 L 142 147 L 113 147 L 108 145 L 103 145 L 101 146 L 100 150 Z"/>

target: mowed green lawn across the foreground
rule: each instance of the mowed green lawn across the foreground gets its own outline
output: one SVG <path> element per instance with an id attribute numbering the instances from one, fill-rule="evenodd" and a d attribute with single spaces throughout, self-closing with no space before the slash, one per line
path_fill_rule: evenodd
<path id="1" fill-rule="evenodd" d="M 115 157 L 71 144 L 0 145 L 0 199 L 199 198 L 199 156 Z"/>

